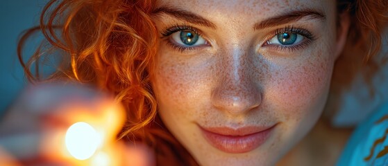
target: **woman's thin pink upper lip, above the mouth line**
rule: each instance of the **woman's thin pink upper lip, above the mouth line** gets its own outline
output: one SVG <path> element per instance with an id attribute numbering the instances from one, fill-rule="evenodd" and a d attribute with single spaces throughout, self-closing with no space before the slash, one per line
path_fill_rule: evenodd
<path id="1" fill-rule="evenodd" d="M 246 127 L 239 127 L 239 128 L 232 128 L 232 127 L 201 127 L 201 128 L 205 131 L 217 133 L 223 136 L 247 136 L 253 133 L 259 133 L 261 131 L 265 131 L 267 129 L 270 129 L 273 126 L 274 125 L 269 127 L 246 126 Z"/>

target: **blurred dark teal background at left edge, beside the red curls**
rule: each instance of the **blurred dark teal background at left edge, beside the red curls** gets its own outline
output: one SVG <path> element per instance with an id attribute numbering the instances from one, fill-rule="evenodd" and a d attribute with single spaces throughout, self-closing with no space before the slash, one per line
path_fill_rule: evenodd
<path id="1" fill-rule="evenodd" d="M 1 0 L 0 3 L 0 115 L 26 84 L 17 59 L 17 41 L 27 28 L 39 22 L 47 0 Z M 33 53 L 32 47 L 26 55 Z"/>

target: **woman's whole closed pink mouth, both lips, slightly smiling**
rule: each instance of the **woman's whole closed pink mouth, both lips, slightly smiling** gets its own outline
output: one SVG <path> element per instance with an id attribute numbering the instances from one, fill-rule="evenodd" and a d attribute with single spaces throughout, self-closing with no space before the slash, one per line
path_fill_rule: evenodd
<path id="1" fill-rule="evenodd" d="M 226 153 L 240 154 L 252 151 L 264 144 L 269 138 L 271 127 L 241 127 L 233 129 L 230 127 L 200 127 L 203 136 L 210 145 Z"/>

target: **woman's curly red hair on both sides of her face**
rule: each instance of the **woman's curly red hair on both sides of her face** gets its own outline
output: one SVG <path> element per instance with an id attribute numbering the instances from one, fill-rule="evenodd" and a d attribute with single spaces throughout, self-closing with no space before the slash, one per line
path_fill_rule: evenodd
<path id="1" fill-rule="evenodd" d="M 352 24 L 344 53 L 335 66 L 335 92 L 353 80 L 354 74 L 349 73 L 366 68 L 368 63 L 363 59 L 380 50 L 388 9 L 385 0 L 337 3 L 338 12 L 348 12 Z M 158 118 L 150 86 L 158 50 L 158 33 L 151 19 L 153 4 L 151 0 L 51 0 L 42 11 L 40 26 L 27 30 L 20 39 L 17 53 L 30 82 L 75 80 L 113 93 L 127 110 L 119 138 L 154 147 L 157 163 L 196 165 Z M 46 40 L 24 62 L 23 46 L 36 31 Z M 40 66 L 47 59 L 60 63 L 54 66 L 55 72 L 42 77 Z M 359 62 L 366 63 L 345 70 L 350 60 L 360 66 Z"/>

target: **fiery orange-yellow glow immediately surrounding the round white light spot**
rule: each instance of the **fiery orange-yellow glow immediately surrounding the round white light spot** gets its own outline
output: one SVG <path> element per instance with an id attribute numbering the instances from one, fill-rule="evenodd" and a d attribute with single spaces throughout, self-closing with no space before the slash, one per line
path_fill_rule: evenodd
<path id="1" fill-rule="evenodd" d="M 47 119 L 44 126 L 52 132 L 42 141 L 44 154 L 70 165 L 122 165 L 124 145 L 116 136 L 124 109 L 110 99 L 94 103 L 93 109 L 83 103 L 64 107 Z"/>

